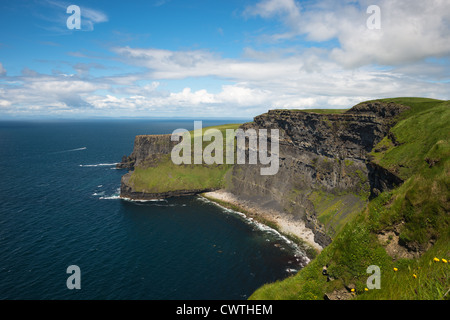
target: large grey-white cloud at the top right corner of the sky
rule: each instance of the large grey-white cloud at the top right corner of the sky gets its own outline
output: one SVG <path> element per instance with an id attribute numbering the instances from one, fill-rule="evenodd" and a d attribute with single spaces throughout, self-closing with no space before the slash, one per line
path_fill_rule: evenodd
<path id="1" fill-rule="evenodd" d="M 274 38 L 304 36 L 314 42 L 337 39 L 330 57 L 349 68 L 367 64 L 398 65 L 450 54 L 450 2 L 380 0 L 381 29 L 367 28 L 366 10 L 374 1 L 263 0 L 246 15 L 278 17 L 287 27 Z"/>

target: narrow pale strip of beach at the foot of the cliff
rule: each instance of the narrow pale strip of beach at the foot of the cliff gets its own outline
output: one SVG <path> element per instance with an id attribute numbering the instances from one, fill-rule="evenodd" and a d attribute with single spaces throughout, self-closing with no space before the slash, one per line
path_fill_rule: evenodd
<path id="1" fill-rule="evenodd" d="M 238 197 L 236 197 L 234 194 L 225 190 L 207 192 L 204 195 L 207 198 L 220 200 L 226 203 L 230 203 L 238 208 L 242 208 L 242 211 L 244 211 L 244 213 L 251 214 L 256 219 L 258 217 L 261 217 L 264 220 L 272 221 L 278 225 L 279 231 L 281 233 L 293 234 L 303 239 L 306 243 L 308 243 L 315 249 L 319 251 L 322 250 L 322 247 L 314 242 L 313 232 L 305 226 L 305 223 L 303 221 L 290 219 L 287 214 L 279 211 L 260 208 L 254 203 L 238 199 Z"/>

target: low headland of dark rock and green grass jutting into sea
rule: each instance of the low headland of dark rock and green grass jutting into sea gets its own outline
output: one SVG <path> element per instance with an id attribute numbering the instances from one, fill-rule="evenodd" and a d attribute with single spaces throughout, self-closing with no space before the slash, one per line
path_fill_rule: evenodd
<path id="1" fill-rule="evenodd" d="M 194 137 L 204 134 L 208 129 L 220 130 L 225 137 L 227 129 L 237 129 L 239 126 L 240 124 L 228 124 L 202 128 L 201 133 L 192 131 L 192 145 Z M 203 148 L 209 143 L 203 142 Z M 134 169 L 122 178 L 121 195 L 134 199 L 159 199 L 196 194 L 224 186 L 224 176 L 232 165 L 225 161 L 224 164 L 214 165 L 176 165 L 170 155 L 175 144 L 170 142 L 170 135 L 136 137 L 133 154 L 124 157 L 120 164 L 123 166 L 124 163 L 131 162 Z"/>

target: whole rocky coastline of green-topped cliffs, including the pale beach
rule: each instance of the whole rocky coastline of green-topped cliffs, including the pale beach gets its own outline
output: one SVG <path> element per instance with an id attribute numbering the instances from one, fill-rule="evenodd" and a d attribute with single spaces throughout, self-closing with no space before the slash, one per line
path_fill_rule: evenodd
<path id="1" fill-rule="evenodd" d="M 279 130 L 275 175 L 261 175 L 260 164 L 175 166 L 170 136 L 140 136 L 118 165 L 132 170 L 121 195 L 202 193 L 323 248 L 295 276 L 264 285 L 251 299 L 443 299 L 449 124 L 450 101 L 428 98 L 345 111 L 270 110 L 239 127 Z M 383 270 L 381 290 L 366 287 L 369 266 Z"/>

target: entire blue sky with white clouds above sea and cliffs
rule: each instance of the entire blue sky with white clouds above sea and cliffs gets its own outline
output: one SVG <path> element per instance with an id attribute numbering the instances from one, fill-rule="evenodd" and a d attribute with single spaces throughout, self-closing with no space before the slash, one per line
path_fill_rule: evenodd
<path id="1" fill-rule="evenodd" d="M 450 99 L 448 0 L 1 0 L 0 30 L 0 120 Z"/>

